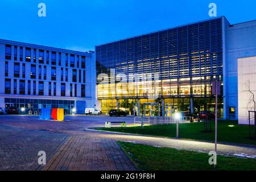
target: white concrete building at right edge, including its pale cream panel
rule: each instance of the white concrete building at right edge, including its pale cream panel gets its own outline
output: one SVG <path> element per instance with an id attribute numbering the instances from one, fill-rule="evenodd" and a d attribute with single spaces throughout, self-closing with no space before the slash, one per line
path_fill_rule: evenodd
<path id="1" fill-rule="evenodd" d="M 245 84 L 250 81 L 252 92 L 255 86 L 256 20 L 230 25 L 226 29 L 226 117 L 248 123 L 249 92 Z"/>

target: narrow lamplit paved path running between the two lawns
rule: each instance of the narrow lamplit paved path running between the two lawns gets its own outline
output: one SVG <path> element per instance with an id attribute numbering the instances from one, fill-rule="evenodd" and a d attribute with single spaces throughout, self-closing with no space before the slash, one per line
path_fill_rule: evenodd
<path id="1" fill-rule="evenodd" d="M 116 134 L 102 131 L 88 131 L 87 135 L 97 138 L 109 138 L 114 140 L 137 142 L 150 146 L 171 147 L 181 150 L 191 150 L 198 152 L 209 152 L 214 150 L 214 143 L 200 142 L 195 140 L 172 139 L 160 137 L 144 137 L 140 135 Z M 243 158 L 256 159 L 256 147 L 233 146 L 230 144 L 217 144 L 217 154 L 228 156 L 239 156 Z"/>

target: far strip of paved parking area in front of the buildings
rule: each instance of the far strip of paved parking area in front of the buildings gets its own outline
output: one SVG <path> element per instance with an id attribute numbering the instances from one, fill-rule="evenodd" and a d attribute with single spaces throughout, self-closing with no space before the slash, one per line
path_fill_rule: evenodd
<path id="1" fill-rule="evenodd" d="M 124 121 L 133 125 L 134 117 L 109 117 L 108 115 L 65 115 L 63 122 L 39 119 L 39 115 L 0 115 L 0 125 L 24 129 L 46 130 L 64 134 L 84 134 L 84 129 L 104 127 L 107 121 Z"/>

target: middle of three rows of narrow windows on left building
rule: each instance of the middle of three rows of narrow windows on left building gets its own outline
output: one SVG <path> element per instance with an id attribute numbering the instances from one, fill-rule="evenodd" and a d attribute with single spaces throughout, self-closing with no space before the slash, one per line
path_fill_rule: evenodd
<path id="1" fill-rule="evenodd" d="M 9 76 L 8 61 L 5 62 L 5 76 Z M 26 76 L 26 65 L 22 63 L 14 63 L 14 77 L 20 77 L 20 66 L 22 66 L 22 78 Z M 47 68 L 45 65 L 38 65 L 38 76 L 40 80 L 47 80 Z M 42 71 L 43 68 L 43 71 Z M 64 81 L 64 70 L 65 70 L 65 81 L 68 81 L 68 68 L 61 68 L 60 80 Z M 77 80 L 77 75 L 79 74 L 79 80 Z M 83 74 L 83 75 L 82 75 Z M 36 65 L 30 65 L 30 78 L 36 78 Z M 51 80 L 56 81 L 56 67 L 51 67 Z M 85 83 L 85 70 L 72 69 L 72 82 L 84 82 Z"/>

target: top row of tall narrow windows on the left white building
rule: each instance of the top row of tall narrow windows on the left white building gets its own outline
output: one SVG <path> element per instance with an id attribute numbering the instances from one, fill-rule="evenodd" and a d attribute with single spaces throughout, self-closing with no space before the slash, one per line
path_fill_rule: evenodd
<path id="1" fill-rule="evenodd" d="M 58 63 L 57 63 L 58 56 Z M 65 53 L 65 67 L 75 67 L 75 57 L 76 57 L 76 67 L 80 66 L 80 57 L 79 55 L 70 55 L 70 61 L 68 60 L 68 53 Z M 32 59 L 31 59 L 32 58 Z M 39 49 L 39 55 L 36 53 L 36 49 L 25 48 L 25 60 L 26 62 L 37 63 L 36 59 L 38 58 L 38 63 L 40 64 L 49 64 L 49 51 L 46 51 L 46 57 L 44 56 L 44 50 Z M 5 59 L 11 60 L 11 45 L 5 46 Z M 14 46 L 14 60 L 18 60 L 18 46 Z M 23 61 L 23 47 L 19 47 L 19 60 Z M 51 51 L 51 65 L 61 65 L 61 52 Z M 81 56 L 81 68 L 85 69 L 85 56 Z"/>

